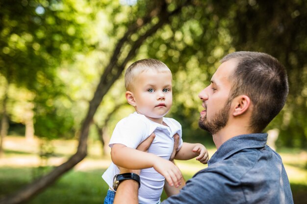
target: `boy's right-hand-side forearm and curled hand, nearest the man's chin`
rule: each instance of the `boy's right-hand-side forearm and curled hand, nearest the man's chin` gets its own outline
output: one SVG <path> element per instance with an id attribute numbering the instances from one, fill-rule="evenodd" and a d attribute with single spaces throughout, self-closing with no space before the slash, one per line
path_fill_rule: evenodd
<path id="1" fill-rule="evenodd" d="M 200 143 L 183 142 L 181 148 L 175 155 L 175 159 L 188 160 L 193 158 L 196 158 L 196 160 L 202 163 L 207 163 L 209 159 L 207 149 Z"/>

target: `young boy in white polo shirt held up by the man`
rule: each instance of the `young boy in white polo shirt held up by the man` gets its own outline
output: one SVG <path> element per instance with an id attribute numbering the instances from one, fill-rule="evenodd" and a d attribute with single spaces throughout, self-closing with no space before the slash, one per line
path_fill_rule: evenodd
<path id="1" fill-rule="evenodd" d="M 181 172 L 171 161 L 175 134 L 179 135 L 179 148 L 175 159 L 195 158 L 202 163 L 208 160 L 204 145 L 182 142 L 181 125 L 173 118 L 163 117 L 172 106 L 172 73 L 155 59 L 139 60 L 130 65 L 125 74 L 126 99 L 135 112 L 120 120 L 110 139 L 113 163 L 102 178 L 110 189 L 104 204 L 112 204 L 115 192 L 113 177 L 119 173 L 116 165 L 128 169 L 142 169 L 139 188 L 141 204 L 158 204 L 164 180 L 169 185 L 180 178 Z M 148 153 L 136 150 L 152 133 L 155 134 Z"/>

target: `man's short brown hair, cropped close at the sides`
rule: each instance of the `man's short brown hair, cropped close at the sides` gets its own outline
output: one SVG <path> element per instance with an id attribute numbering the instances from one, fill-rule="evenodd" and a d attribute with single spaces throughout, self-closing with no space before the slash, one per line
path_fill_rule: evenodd
<path id="1" fill-rule="evenodd" d="M 250 97 L 254 108 L 251 130 L 262 132 L 281 111 L 289 92 L 286 69 L 266 53 L 239 51 L 226 55 L 221 63 L 230 59 L 238 61 L 230 76 L 230 100 L 238 95 Z"/>

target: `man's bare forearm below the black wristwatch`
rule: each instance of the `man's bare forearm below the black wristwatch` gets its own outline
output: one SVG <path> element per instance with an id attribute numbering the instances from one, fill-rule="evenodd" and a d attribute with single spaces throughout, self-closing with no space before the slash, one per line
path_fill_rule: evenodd
<path id="1" fill-rule="evenodd" d="M 113 204 L 138 204 L 139 184 L 134 180 L 121 181 Z"/>

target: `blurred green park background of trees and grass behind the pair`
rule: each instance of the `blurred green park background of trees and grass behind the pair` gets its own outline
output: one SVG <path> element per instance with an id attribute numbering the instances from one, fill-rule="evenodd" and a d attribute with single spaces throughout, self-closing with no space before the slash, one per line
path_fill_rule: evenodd
<path id="1" fill-rule="evenodd" d="M 198 93 L 239 50 L 269 53 L 288 71 L 287 103 L 265 131 L 295 203 L 306 201 L 306 8 L 305 0 L 1 0 L 0 203 L 102 203 L 106 144 L 133 112 L 123 74 L 143 58 L 172 70 L 167 116 L 212 155 L 211 136 L 198 128 Z M 187 179 L 204 168 L 178 164 Z"/>

